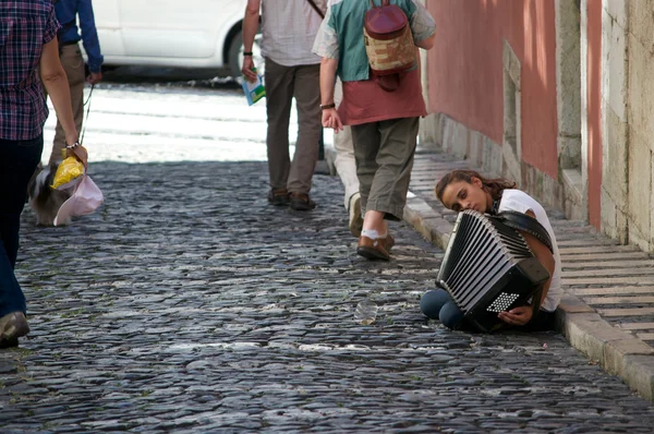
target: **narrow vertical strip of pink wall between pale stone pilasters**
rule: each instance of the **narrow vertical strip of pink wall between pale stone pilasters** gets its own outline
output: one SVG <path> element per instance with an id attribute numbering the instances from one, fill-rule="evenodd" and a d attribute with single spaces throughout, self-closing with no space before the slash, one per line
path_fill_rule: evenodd
<path id="1" fill-rule="evenodd" d="M 589 221 L 601 225 L 602 189 L 602 0 L 588 0 Z"/>

